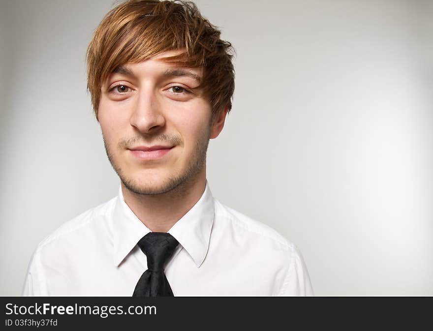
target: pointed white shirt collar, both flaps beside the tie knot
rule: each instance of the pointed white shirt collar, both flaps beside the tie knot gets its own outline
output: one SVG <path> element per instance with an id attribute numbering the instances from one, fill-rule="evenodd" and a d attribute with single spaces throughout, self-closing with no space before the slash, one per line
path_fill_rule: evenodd
<path id="1" fill-rule="evenodd" d="M 197 203 L 167 232 L 185 248 L 197 268 L 208 251 L 214 222 L 214 198 L 206 181 L 205 190 Z M 122 186 L 113 210 L 114 264 L 119 266 L 137 242 L 151 232 L 124 201 Z"/>

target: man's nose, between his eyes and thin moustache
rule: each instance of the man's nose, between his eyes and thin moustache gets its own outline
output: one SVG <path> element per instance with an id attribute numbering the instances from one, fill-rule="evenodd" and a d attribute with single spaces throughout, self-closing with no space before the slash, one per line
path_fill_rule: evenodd
<path id="1" fill-rule="evenodd" d="M 130 123 L 142 133 L 153 133 L 165 125 L 160 102 L 153 91 L 140 91 Z"/>

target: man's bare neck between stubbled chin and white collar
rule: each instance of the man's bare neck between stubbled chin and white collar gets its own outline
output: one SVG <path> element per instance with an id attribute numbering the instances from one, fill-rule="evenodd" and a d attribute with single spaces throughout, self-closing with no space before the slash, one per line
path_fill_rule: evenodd
<path id="1" fill-rule="evenodd" d="M 206 171 L 163 194 L 136 194 L 122 183 L 126 205 L 152 232 L 167 232 L 200 200 Z"/>

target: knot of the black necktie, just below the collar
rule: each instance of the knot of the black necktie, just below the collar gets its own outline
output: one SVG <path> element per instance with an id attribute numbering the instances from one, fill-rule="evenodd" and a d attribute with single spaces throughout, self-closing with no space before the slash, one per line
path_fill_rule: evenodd
<path id="1" fill-rule="evenodd" d="M 147 268 L 150 271 L 164 271 L 164 266 L 173 255 L 178 241 L 166 232 L 149 232 L 138 246 L 147 257 Z"/>

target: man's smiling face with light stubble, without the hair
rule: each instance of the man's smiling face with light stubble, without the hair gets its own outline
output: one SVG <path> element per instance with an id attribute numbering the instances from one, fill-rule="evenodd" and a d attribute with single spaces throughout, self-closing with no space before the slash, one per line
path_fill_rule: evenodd
<path id="1" fill-rule="evenodd" d="M 158 60 L 175 54 L 126 63 L 102 85 L 105 149 L 126 188 L 138 194 L 165 193 L 205 174 L 209 139 L 222 129 L 210 125 L 208 98 L 192 90 L 200 70 Z"/>

